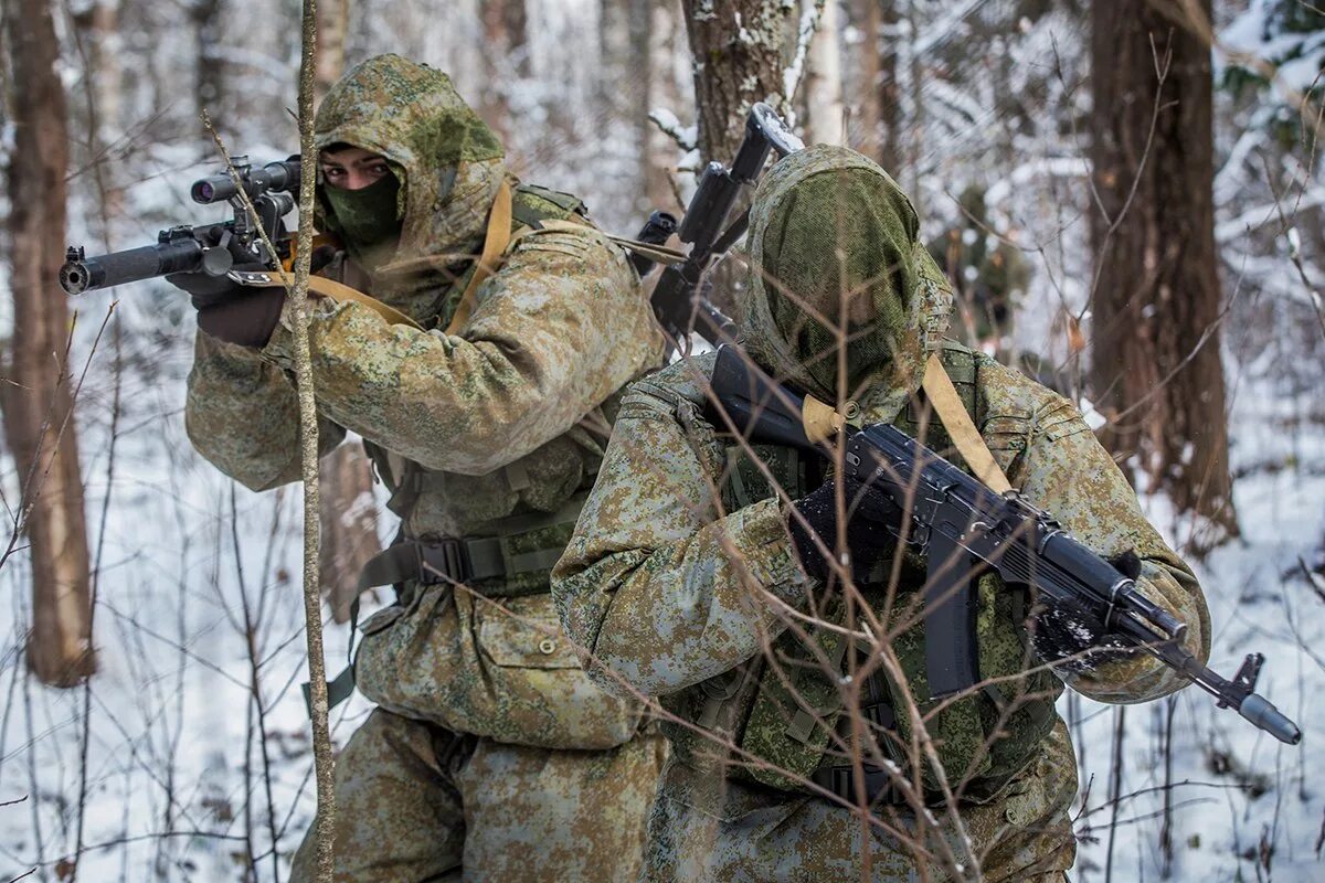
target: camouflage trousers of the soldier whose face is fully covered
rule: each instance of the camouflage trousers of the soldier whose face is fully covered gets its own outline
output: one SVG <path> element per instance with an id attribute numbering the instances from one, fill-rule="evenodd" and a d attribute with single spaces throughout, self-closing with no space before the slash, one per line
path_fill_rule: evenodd
<path id="1" fill-rule="evenodd" d="M 1068 808 L 1076 794 L 1076 759 L 1060 720 L 1045 751 L 1006 793 L 963 805 L 962 823 L 988 883 L 1063 883 L 1076 841 Z M 943 812 L 934 815 L 943 822 Z M 905 806 L 876 814 L 898 831 L 914 831 Z M 649 819 L 640 880 L 647 883 L 941 883 L 937 864 L 917 860 L 894 835 L 872 826 L 869 862 L 860 817 L 827 800 L 746 785 L 668 763 Z M 942 826 L 950 843 L 958 838 Z M 933 851 L 933 850 L 930 850 Z M 962 853 L 954 849 L 961 858 Z"/>

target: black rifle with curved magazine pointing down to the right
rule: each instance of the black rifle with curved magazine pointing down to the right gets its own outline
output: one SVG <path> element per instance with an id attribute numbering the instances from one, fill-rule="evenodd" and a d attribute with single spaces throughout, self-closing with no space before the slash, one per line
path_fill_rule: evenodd
<path id="1" fill-rule="evenodd" d="M 832 408 L 774 383 L 739 349 L 718 349 L 712 388 L 750 442 L 833 455 L 827 446 L 831 430 L 816 432 L 819 438 L 807 430 L 816 425 L 816 413 L 831 416 Z M 726 425 L 721 414 L 714 417 L 718 426 Z M 881 526 L 928 555 L 925 667 L 931 696 L 969 690 L 980 679 L 974 582 L 979 572 L 992 571 L 1007 584 L 1034 586 L 1048 609 L 1084 608 L 1110 638 L 1149 653 L 1212 695 L 1218 707 L 1236 710 L 1275 739 L 1291 745 L 1301 740 L 1297 724 L 1255 692 L 1261 654 L 1249 654 L 1232 680 L 1203 666 L 1182 643 L 1183 622 L 1015 491 L 995 494 L 886 424 L 851 432 L 843 469 L 892 499 L 897 518 Z"/>

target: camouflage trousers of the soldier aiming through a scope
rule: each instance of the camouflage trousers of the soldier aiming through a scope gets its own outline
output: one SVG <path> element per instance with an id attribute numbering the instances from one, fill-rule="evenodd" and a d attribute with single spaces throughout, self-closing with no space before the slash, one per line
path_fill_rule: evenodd
<path id="1" fill-rule="evenodd" d="M 337 757 L 338 883 L 636 879 L 666 756 L 510 745 L 376 710 Z M 315 876 L 313 829 L 293 883 Z"/>

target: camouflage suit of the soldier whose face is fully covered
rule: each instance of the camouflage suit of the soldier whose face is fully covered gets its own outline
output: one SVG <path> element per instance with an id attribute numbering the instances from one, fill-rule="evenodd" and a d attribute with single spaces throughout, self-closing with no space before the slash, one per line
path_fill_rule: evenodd
<path id="1" fill-rule="evenodd" d="M 778 216 L 776 207 L 787 204 L 804 180 L 822 172 L 836 175 L 843 164 L 860 175 L 873 167 L 857 154 L 824 147 L 794 154 L 774 167 L 751 209 L 754 267 L 765 266 L 762 240 L 770 229 L 767 220 Z M 878 187 L 894 187 L 881 171 L 874 173 Z M 916 289 L 906 299 L 908 324 L 889 352 L 886 369 L 853 391 L 859 422 L 905 422 L 904 408 L 914 405 L 928 352 L 939 346 L 965 352 L 975 360 L 970 381 L 977 426 L 1012 485 L 1098 552 L 1134 551 L 1142 560 L 1142 590 L 1191 625 L 1191 649 L 1203 655 L 1210 621 L 1200 589 L 1146 523 L 1112 458 L 1068 401 L 986 356 L 941 344 L 950 294 L 920 244 L 913 246 L 917 271 Z M 861 285 L 860 279 L 848 282 L 852 289 Z M 770 286 L 755 274 L 739 304 L 747 349 L 775 376 L 816 389 L 816 379 L 802 364 L 814 353 L 798 351 L 798 342 L 780 335 L 768 304 Z M 886 286 L 864 290 L 893 297 Z M 839 314 L 829 315 L 836 319 Z M 645 876 L 908 880 L 920 879 L 917 874 L 928 868 L 928 879 L 941 879 L 933 862 L 934 838 L 957 838 L 957 833 L 939 809 L 917 814 L 909 805 L 874 808 L 876 817 L 893 819 L 894 830 L 913 835 L 876 838 L 867 872 L 861 822 L 852 810 L 822 793 L 811 797 L 733 778 L 743 767 L 733 767 L 742 756 L 734 756 L 730 745 L 741 737 L 754 695 L 735 686 L 739 678 L 733 675 L 751 661 L 767 669 L 786 665 L 780 650 L 771 649 L 784 646 L 776 643 L 783 634 L 804 631 L 798 616 L 824 610 L 829 598 L 796 563 L 784 499 L 767 498 L 734 511 L 722 507 L 717 488 L 726 481 L 730 441 L 704 418 L 712 367 L 712 353 L 696 356 L 632 387 L 598 483 L 553 577 L 567 633 L 592 655 L 591 674 L 608 688 L 613 675 L 620 676 L 660 696 L 669 711 L 689 721 L 664 724 L 673 755 L 651 822 Z M 822 384 L 818 388 L 823 392 Z M 844 405 L 841 398 L 831 396 L 829 401 Z M 878 606 L 863 596 L 885 625 L 896 614 L 888 608 L 900 606 L 889 605 L 892 598 L 913 597 L 906 593 L 924 584 L 925 563 L 916 564 L 921 567 L 904 563 L 896 596 L 889 593 Z M 984 629 L 1011 634 L 1015 624 L 1003 606 L 1006 594 L 986 598 L 986 588 L 982 584 L 978 616 L 996 621 L 982 624 L 982 634 Z M 894 650 L 902 654 L 905 647 Z M 1014 669 L 1034 665 L 1020 653 L 1010 662 Z M 987 663 L 992 659 L 982 645 L 982 671 L 988 671 Z M 1143 655 L 1063 676 L 1105 702 L 1142 702 L 1183 684 Z M 912 687 L 922 691 L 924 684 Z M 722 714 L 708 727 L 708 736 L 700 735 L 694 724 L 716 698 L 723 698 Z M 945 712 L 926 700 L 922 694 L 912 698 L 920 714 L 939 721 Z M 904 712 L 900 707 L 898 714 Z M 946 737 L 965 736 L 949 732 Z M 1071 743 L 1061 721 L 1035 739 L 1019 747 L 1028 760 L 996 793 L 963 796 L 958 806 L 986 879 L 1057 879 L 1072 864 L 1067 810 L 1076 782 Z M 973 751 L 978 748 L 977 743 Z M 961 769 L 947 772 L 954 782 L 963 778 Z"/>

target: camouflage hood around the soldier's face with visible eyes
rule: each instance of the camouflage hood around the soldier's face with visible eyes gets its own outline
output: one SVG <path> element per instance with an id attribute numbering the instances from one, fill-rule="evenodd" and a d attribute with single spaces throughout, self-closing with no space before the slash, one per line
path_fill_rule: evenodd
<path id="1" fill-rule="evenodd" d="M 497 136 L 447 74 L 400 56 L 370 58 L 322 99 L 314 130 L 319 151 L 344 143 L 382 154 L 400 179 L 394 261 L 440 257 L 445 266 L 478 250 L 506 167 Z M 319 208 L 335 229 L 326 203 Z M 374 293 L 399 299 L 396 287 Z"/>

